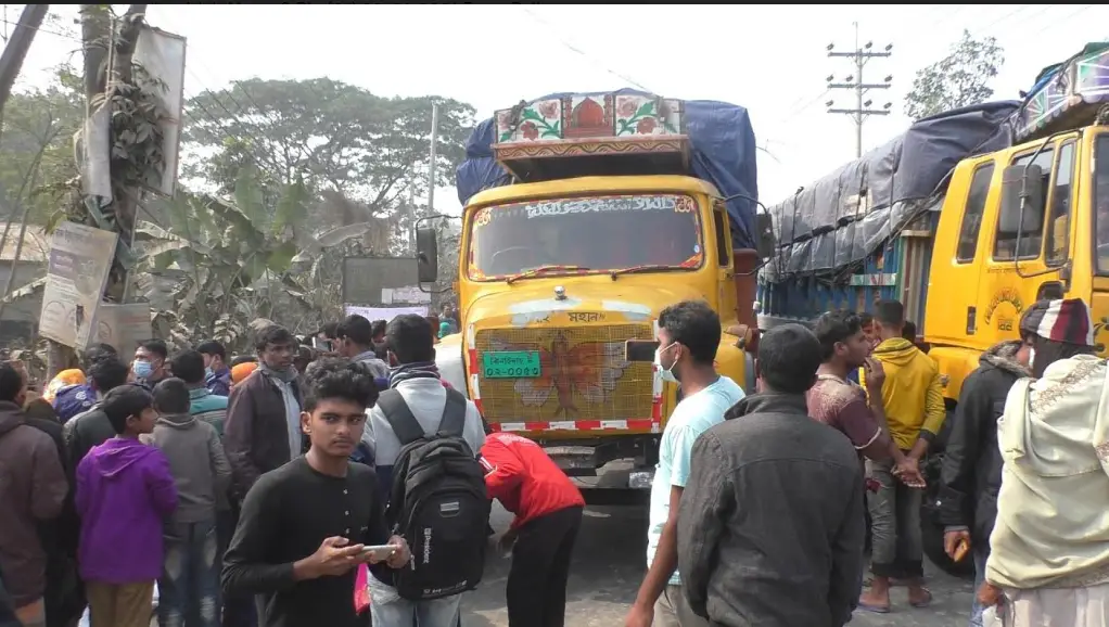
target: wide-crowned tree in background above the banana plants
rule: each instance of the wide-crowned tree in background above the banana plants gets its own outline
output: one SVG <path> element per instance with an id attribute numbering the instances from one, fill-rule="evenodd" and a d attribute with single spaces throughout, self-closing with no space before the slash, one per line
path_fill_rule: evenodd
<path id="1" fill-rule="evenodd" d="M 186 175 L 228 193 L 237 172 L 265 173 L 268 193 L 303 178 L 313 197 L 329 193 L 315 222 L 362 224 L 394 214 L 409 189 L 426 193 L 431 105 L 439 104 L 439 181 L 452 184 L 465 156 L 474 107 L 439 96 L 381 97 L 330 79 L 240 81 L 187 105 L 185 141 L 214 156 Z"/>

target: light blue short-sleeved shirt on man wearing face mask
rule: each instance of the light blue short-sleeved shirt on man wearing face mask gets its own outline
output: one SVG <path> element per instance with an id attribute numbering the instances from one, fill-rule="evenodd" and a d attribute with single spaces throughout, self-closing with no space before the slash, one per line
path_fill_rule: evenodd
<path id="1" fill-rule="evenodd" d="M 693 442 L 710 428 L 724 422 L 724 412 L 743 399 L 743 389 L 728 377 L 682 399 L 670 414 L 659 443 L 659 465 L 651 485 L 650 522 L 647 527 L 647 565 L 651 566 L 659 548 L 662 527 L 670 517 L 670 489 L 684 489 L 690 476 Z M 670 585 L 681 585 L 678 572 Z"/>

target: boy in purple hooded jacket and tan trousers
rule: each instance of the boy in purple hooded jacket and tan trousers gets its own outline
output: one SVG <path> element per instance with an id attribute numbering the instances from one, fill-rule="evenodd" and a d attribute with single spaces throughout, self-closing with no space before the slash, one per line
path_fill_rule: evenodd
<path id="1" fill-rule="evenodd" d="M 81 578 L 93 625 L 147 627 L 162 574 L 162 526 L 177 506 L 177 489 L 162 451 L 139 442 L 154 430 L 150 392 L 121 386 L 101 409 L 116 435 L 77 469 Z"/>

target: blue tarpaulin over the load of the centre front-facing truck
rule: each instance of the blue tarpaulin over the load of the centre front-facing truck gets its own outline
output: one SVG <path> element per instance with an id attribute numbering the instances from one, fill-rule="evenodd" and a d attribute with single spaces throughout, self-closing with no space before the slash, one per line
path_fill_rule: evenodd
<path id="1" fill-rule="evenodd" d="M 654 96 L 638 90 L 602 93 Z M 531 102 L 574 95 L 556 93 Z M 709 100 L 682 102 L 685 130 L 690 138 L 691 175 L 712 183 L 726 198 L 743 194 L 759 198 L 759 175 L 755 167 L 755 133 L 751 127 L 747 110 L 734 104 Z M 512 177 L 494 158 L 496 124 L 486 120 L 474 129 L 466 144 L 466 161 L 458 166 L 458 199 L 464 205 L 478 192 L 511 183 Z M 735 248 L 755 248 L 755 204 L 744 198 L 728 202 L 732 223 L 732 245 Z"/>

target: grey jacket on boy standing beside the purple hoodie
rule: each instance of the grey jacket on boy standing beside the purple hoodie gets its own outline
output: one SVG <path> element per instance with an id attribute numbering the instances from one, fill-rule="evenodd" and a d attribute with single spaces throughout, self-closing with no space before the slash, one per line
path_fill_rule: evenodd
<path id="1" fill-rule="evenodd" d="M 215 520 L 217 495 L 231 485 L 231 464 L 215 428 L 192 415 L 162 415 L 154 424 L 151 444 L 170 460 L 177 485 L 174 523 Z"/>

